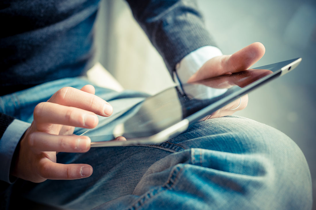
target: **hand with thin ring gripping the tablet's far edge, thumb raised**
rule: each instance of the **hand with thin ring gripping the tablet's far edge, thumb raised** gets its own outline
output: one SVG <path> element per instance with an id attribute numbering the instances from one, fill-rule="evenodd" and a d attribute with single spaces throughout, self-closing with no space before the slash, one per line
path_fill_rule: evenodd
<path id="1" fill-rule="evenodd" d="M 236 73 L 249 69 L 249 67 L 256 63 L 264 55 L 264 52 L 264 46 L 259 42 L 255 42 L 232 55 L 213 57 L 212 59 L 205 62 L 204 65 L 195 74 L 193 74 L 187 82 L 193 83 L 216 76 Z M 237 99 L 215 111 L 211 115 L 204 117 L 202 120 L 232 115 L 235 111 L 246 108 L 248 104 L 248 95 L 242 96 L 240 106 L 238 106 L 239 103 L 240 99 Z M 231 110 L 237 106 L 237 109 Z"/>

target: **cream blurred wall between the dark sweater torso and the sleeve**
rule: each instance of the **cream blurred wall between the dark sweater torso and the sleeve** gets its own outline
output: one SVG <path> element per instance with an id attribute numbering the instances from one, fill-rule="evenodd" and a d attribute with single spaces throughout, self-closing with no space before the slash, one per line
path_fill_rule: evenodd
<path id="1" fill-rule="evenodd" d="M 100 63 L 125 89 L 155 94 L 172 86 L 162 58 L 134 20 L 127 3 L 105 0 L 100 6 L 96 24 Z"/>

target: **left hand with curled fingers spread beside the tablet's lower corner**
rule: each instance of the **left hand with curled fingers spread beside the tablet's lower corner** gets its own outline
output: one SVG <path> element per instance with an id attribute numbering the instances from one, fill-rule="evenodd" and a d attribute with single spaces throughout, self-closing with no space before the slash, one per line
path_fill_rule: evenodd
<path id="1" fill-rule="evenodd" d="M 108 117 L 113 108 L 94 95 L 94 87 L 78 90 L 64 87 L 47 102 L 36 105 L 34 120 L 20 142 L 11 174 L 31 182 L 46 179 L 80 179 L 92 174 L 87 164 L 56 163 L 56 152 L 84 153 L 90 149 L 88 136 L 72 135 L 75 127 L 94 128 L 96 114 Z"/>

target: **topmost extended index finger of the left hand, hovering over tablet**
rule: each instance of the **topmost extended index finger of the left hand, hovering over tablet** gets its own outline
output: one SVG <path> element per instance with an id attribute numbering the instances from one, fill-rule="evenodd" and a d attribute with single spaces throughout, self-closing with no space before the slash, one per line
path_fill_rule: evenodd
<path id="1" fill-rule="evenodd" d="M 113 112 L 112 106 L 105 100 L 74 87 L 63 87 L 52 95 L 48 102 L 92 111 L 105 117 L 110 116 Z"/>

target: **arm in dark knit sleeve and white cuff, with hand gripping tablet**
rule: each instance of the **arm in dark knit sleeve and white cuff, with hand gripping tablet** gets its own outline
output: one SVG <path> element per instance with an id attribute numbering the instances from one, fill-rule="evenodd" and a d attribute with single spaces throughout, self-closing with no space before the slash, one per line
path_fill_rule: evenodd
<path id="1" fill-rule="evenodd" d="M 196 1 L 126 1 L 129 3 L 135 19 L 161 54 L 171 75 L 173 76 L 173 71 L 177 69 L 178 76 L 182 77 L 181 82 L 195 82 L 246 70 L 264 54 L 264 46 L 261 43 L 253 43 L 233 55 L 221 55 L 221 52 L 213 48 L 211 51 L 215 51 L 215 53 L 206 53 L 214 54 L 215 57 L 210 56 L 207 59 L 208 55 L 204 55 L 201 60 L 205 63 L 201 65 L 201 62 L 198 61 L 200 58 L 192 60 L 187 58 L 192 57 L 192 54 L 187 55 L 191 52 L 194 56 L 201 54 L 202 47 L 213 47 L 215 44 L 204 27 Z M 216 56 L 216 54 L 218 55 Z M 176 67 L 177 64 L 179 64 L 179 68 Z M 240 100 L 222 107 L 207 118 L 231 115 L 235 111 L 245 108 L 248 102 L 247 95 Z M 238 105 L 239 103 L 241 105 Z"/>

